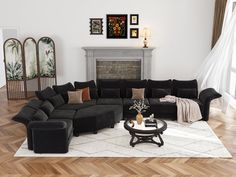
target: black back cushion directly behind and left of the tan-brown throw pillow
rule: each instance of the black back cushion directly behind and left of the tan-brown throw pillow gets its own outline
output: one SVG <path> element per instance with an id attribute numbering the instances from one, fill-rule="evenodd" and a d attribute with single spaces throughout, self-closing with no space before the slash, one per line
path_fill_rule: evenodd
<path id="1" fill-rule="evenodd" d="M 74 86 L 68 82 L 64 85 L 54 85 L 52 86 L 56 93 L 61 94 L 65 103 L 68 102 L 68 91 L 75 91 Z"/>

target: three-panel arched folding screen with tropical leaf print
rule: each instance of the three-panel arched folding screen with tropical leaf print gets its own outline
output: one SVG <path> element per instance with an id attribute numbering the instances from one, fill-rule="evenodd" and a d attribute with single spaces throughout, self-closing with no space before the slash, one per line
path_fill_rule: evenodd
<path id="1" fill-rule="evenodd" d="M 23 48 L 23 49 L 22 49 Z M 33 97 L 36 90 L 56 84 L 55 44 L 49 37 L 38 43 L 29 37 L 22 44 L 10 38 L 4 43 L 8 99 Z"/>

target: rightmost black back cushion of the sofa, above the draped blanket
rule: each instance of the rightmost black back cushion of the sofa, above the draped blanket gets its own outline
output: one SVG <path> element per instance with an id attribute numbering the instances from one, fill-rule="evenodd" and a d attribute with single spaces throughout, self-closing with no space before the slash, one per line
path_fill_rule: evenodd
<path id="1" fill-rule="evenodd" d="M 195 89 L 195 95 L 193 96 L 193 90 L 191 91 L 191 98 L 197 98 L 198 97 L 198 85 L 197 85 L 197 80 L 173 80 L 173 95 L 178 96 L 178 92 L 183 92 L 179 91 L 181 89 Z M 187 97 L 185 93 L 185 97 Z"/>

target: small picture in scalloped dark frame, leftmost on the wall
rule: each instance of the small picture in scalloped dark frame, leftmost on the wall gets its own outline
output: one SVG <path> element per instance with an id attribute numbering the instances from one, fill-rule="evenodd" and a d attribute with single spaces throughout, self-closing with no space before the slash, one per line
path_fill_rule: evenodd
<path id="1" fill-rule="evenodd" d="M 99 35 L 103 32 L 102 18 L 90 18 L 90 35 Z"/>

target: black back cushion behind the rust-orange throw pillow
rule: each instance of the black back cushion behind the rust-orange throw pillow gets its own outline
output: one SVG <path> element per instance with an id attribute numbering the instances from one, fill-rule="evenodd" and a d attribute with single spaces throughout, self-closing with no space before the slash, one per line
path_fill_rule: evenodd
<path id="1" fill-rule="evenodd" d="M 75 81 L 74 85 L 75 85 L 75 89 L 83 89 L 83 88 L 89 87 L 90 97 L 92 99 L 97 99 L 98 98 L 97 87 L 96 87 L 96 84 L 95 84 L 94 80 L 87 81 L 87 82 L 77 82 L 77 81 Z"/>

